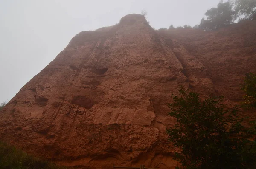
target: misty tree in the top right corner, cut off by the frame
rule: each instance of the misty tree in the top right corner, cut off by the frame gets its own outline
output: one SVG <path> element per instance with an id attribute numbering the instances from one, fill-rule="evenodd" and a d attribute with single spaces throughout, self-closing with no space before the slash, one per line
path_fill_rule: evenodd
<path id="1" fill-rule="evenodd" d="M 256 0 L 233 0 L 236 18 L 256 20 Z"/>

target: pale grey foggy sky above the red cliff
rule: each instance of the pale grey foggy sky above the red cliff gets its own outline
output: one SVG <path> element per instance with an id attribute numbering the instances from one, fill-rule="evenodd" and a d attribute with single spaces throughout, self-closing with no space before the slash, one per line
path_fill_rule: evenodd
<path id="1" fill-rule="evenodd" d="M 219 0 L 0 0 L 0 103 L 62 51 L 73 36 L 148 12 L 153 28 L 198 24 Z"/>

